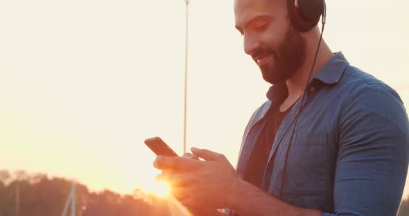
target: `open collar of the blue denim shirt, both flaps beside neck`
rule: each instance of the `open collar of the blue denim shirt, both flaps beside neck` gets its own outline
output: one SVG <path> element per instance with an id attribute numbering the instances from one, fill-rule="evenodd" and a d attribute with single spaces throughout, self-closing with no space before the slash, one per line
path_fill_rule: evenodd
<path id="1" fill-rule="evenodd" d="M 340 81 L 342 73 L 344 73 L 348 65 L 349 62 L 342 52 L 334 53 L 327 64 L 325 64 L 320 71 L 315 73 L 312 80 L 320 80 L 325 84 L 336 84 Z M 286 99 L 287 96 L 288 89 L 285 82 L 282 84 L 273 84 L 267 92 L 267 98 L 272 102 Z"/>

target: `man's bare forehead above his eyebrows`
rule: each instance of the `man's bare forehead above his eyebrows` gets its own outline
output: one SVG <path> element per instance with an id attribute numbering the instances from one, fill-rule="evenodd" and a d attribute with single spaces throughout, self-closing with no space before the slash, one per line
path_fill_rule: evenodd
<path id="1" fill-rule="evenodd" d="M 241 26 L 257 16 L 285 16 L 286 2 L 286 0 L 234 0 L 236 26 Z"/>

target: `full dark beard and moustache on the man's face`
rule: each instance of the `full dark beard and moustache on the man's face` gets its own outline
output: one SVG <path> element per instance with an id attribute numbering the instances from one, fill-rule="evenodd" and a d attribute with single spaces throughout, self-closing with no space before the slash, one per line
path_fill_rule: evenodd
<path id="1" fill-rule="evenodd" d="M 270 62 L 259 66 L 264 80 L 270 84 L 279 84 L 291 78 L 306 57 L 306 39 L 293 26 L 288 26 L 284 41 L 274 50 L 268 46 L 259 48 L 257 55 L 271 55 Z"/>

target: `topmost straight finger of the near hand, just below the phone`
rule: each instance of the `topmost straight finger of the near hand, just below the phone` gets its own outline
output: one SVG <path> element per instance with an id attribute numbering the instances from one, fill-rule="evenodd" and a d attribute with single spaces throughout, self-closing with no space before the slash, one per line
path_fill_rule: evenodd
<path id="1" fill-rule="evenodd" d="M 182 156 L 158 155 L 153 166 L 159 170 L 192 170 L 197 169 L 203 161 L 193 160 Z"/>

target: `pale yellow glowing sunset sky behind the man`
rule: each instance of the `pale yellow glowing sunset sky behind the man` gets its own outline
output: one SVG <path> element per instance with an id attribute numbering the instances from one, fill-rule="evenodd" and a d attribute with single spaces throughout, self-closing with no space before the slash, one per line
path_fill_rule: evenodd
<path id="1" fill-rule="evenodd" d="M 332 51 L 396 89 L 406 107 L 408 7 L 327 1 L 324 31 Z M 184 21 L 184 0 L 0 0 L 0 170 L 92 190 L 155 188 L 143 140 L 161 136 L 182 154 Z M 270 87 L 242 39 L 232 0 L 191 0 L 188 147 L 233 165 Z"/>

